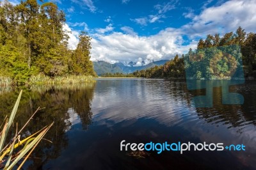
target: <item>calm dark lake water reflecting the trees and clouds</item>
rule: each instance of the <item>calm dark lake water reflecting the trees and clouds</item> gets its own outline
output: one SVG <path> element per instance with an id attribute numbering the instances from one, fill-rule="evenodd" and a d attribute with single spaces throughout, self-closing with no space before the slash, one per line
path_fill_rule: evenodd
<path id="1" fill-rule="evenodd" d="M 0 121 L 12 111 L 20 89 L 1 89 Z M 24 88 L 16 121 L 23 125 L 37 107 L 24 137 L 54 121 L 24 169 L 256 169 L 256 82 L 232 86 L 243 105 L 195 108 L 185 81 L 98 79 L 92 84 Z M 0 122 L 1 123 L 1 122 Z M 246 151 L 120 151 L 126 143 L 244 144 Z"/>

